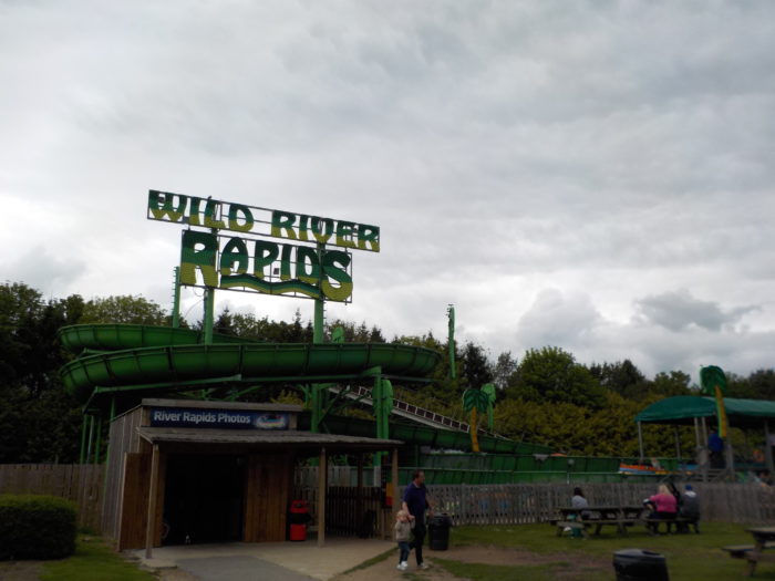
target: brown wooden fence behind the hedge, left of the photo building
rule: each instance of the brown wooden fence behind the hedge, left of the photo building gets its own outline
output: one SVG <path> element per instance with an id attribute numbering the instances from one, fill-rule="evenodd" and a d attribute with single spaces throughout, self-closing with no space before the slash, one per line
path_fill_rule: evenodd
<path id="1" fill-rule="evenodd" d="M 0 464 L 0 494 L 52 495 L 72 500 L 79 526 L 100 530 L 102 466 L 92 464 Z"/>

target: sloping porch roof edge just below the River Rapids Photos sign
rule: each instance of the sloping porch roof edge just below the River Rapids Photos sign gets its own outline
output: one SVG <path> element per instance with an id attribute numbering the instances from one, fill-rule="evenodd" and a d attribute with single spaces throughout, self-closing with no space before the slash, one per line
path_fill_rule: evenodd
<path id="1" fill-rule="evenodd" d="M 397 439 L 378 439 L 337 434 L 313 434 L 297 430 L 262 429 L 197 429 L 180 427 L 137 428 L 151 444 L 231 445 L 260 448 L 321 448 L 337 450 L 379 452 L 403 445 Z"/>

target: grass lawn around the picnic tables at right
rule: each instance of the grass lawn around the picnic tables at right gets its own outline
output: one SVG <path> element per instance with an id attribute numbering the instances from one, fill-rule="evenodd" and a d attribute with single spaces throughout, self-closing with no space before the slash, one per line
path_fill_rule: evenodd
<path id="1" fill-rule="evenodd" d="M 745 525 L 703 522 L 695 535 L 652 537 L 642 526 L 630 529 L 627 537 L 602 532 L 600 537 L 578 539 L 557 537 L 549 525 L 459 527 L 451 531 L 452 547 L 495 546 L 529 551 L 536 561 L 521 567 L 463 563 L 447 560 L 443 552 L 428 552 L 434 563 L 456 577 L 473 581 L 552 580 L 592 581 L 614 579 L 613 553 L 621 549 L 647 549 L 663 554 L 671 581 L 730 581 L 745 577 L 746 562 L 732 559 L 721 547 L 751 544 Z M 757 567 L 755 579 L 775 580 L 775 563 Z"/>

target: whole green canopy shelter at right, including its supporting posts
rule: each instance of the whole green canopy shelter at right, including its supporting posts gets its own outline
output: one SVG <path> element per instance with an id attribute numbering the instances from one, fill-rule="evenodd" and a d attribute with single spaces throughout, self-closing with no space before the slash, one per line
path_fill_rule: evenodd
<path id="1" fill-rule="evenodd" d="M 741 428 L 761 428 L 764 426 L 766 434 L 765 457 L 767 468 L 773 470 L 772 448 L 769 446 L 769 421 L 775 419 L 775 402 L 767 400 L 738 400 L 724 397 L 724 406 L 730 424 Z M 640 455 L 643 458 L 643 437 L 641 425 L 668 424 L 668 425 L 694 425 L 698 447 L 707 442 L 706 418 L 716 416 L 716 404 L 713 397 L 701 395 L 678 395 L 660 400 L 642 409 L 637 416 L 638 438 Z M 702 439 L 700 430 L 702 429 Z M 678 437 L 676 437 L 678 443 Z M 701 444 L 702 443 L 702 444 Z M 680 456 L 680 449 L 679 449 Z M 731 446 L 727 446 L 727 458 L 731 460 Z M 731 466 L 731 461 L 728 461 Z"/>

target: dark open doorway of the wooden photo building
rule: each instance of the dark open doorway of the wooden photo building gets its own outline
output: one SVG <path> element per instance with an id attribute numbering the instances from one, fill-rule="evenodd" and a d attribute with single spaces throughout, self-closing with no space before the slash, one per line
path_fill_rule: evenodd
<path id="1" fill-rule="evenodd" d="M 164 492 L 164 544 L 242 540 L 245 458 L 170 455 Z"/>

